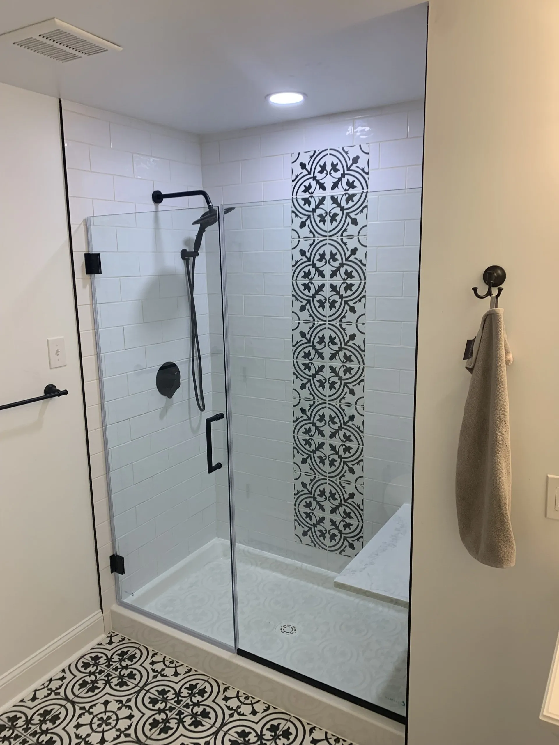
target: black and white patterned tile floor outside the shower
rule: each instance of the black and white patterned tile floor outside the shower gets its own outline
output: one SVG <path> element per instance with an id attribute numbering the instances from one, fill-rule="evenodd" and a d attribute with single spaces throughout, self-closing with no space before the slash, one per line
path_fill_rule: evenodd
<path id="1" fill-rule="evenodd" d="M 350 745 L 110 634 L 7 711 L 2 745 Z"/>

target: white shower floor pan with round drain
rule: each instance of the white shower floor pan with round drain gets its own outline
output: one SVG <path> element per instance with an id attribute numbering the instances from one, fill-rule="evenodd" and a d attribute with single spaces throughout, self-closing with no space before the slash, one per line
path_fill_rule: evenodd
<path id="1" fill-rule="evenodd" d="M 408 611 L 337 576 L 238 545 L 239 647 L 404 714 Z M 229 543 L 213 539 L 127 603 L 231 644 L 230 577 Z"/>

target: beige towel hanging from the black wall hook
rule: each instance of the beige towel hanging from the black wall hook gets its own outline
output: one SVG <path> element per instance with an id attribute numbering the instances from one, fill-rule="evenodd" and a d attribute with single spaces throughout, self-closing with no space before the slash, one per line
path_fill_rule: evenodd
<path id="1" fill-rule="evenodd" d="M 514 566 L 511 442 L 506 366 L 512 362 L 502 308 L 481 319 L 456 463 L 456 510 L 464 546 L 482 564 Z"/>

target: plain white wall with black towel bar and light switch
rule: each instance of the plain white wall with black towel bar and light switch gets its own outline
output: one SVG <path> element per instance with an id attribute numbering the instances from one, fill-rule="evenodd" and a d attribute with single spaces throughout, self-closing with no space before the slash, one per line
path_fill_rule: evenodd
<path id="1" fill-rule="evenodd" d="M 0 84 L 0 162 L 1 403 L 69 392 L 0 412 L 1 706 L 102 624 L 57 99 Z M 51 370 L 58 336 L 66 367 Z M 95 613 L 77 647 L 9 673 Z"/>

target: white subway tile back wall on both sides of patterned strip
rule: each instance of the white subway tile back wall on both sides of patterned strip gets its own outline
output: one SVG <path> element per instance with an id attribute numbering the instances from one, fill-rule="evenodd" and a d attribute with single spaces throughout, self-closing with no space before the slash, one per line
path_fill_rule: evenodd
<path id="1" fill-rule="evenodd" d="M 364 142 L 370 191 L 410 191 L 380 197 L 380 210 L 379 197 L 369 204 L 366 542 L 411 500 L 423 102 L 203 136 L 202 173 L 215 203 L 290 200 L 291 153 Z M 238 207 L 225 228 L 237 536 L 335 570 L 340 557 L 294 544 L 291 211 Z"/>

